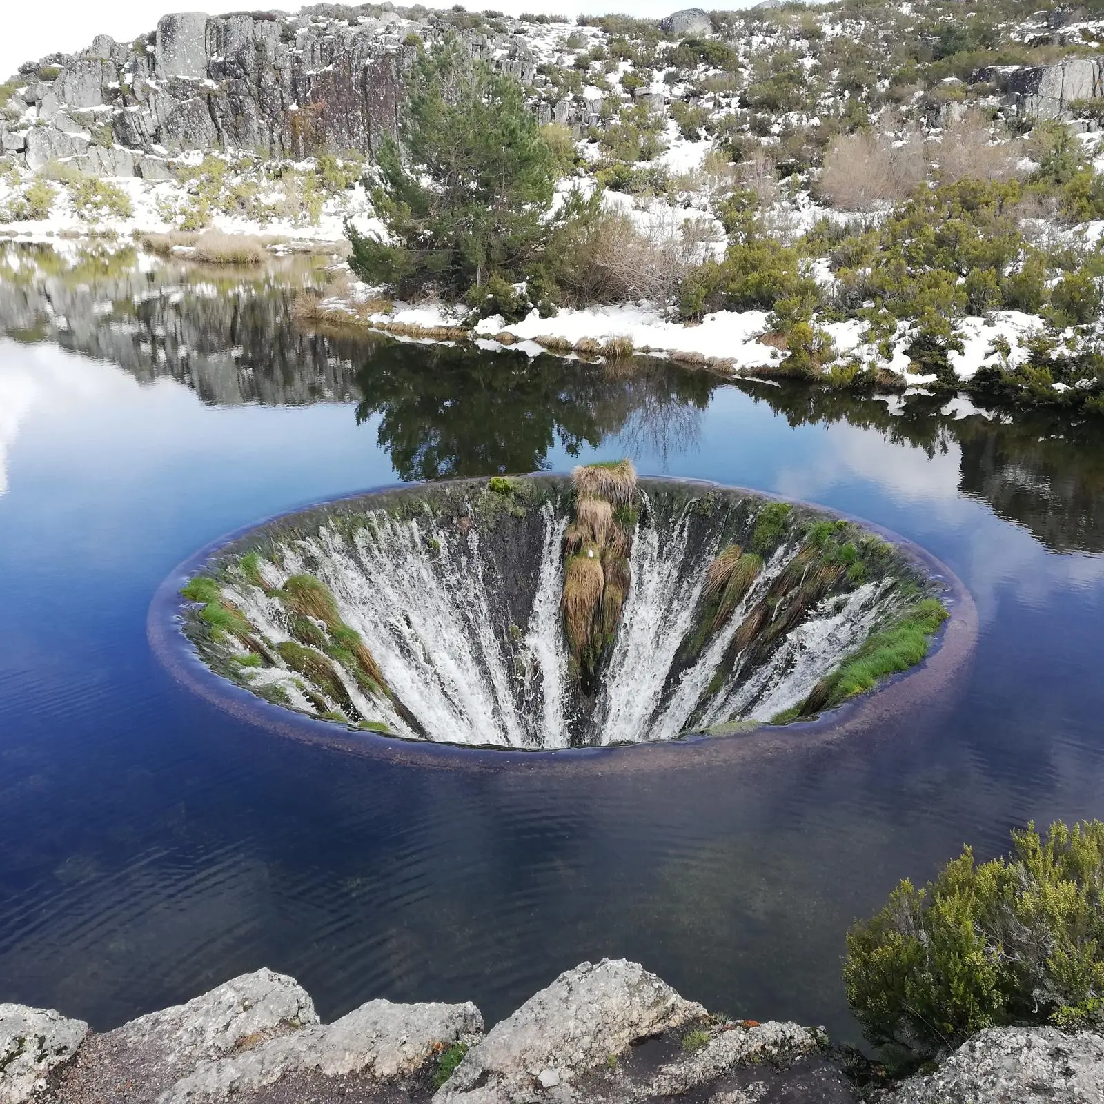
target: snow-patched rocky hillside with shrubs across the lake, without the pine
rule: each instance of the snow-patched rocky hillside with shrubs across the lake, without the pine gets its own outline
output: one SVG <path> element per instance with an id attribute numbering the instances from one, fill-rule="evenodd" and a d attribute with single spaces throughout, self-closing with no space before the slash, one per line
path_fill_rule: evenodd
<path id="1" fill-rule="evenodd" d="M 374 166 L 418 59 L 458 43 L 520 83 L 555 153 L 548 225 L 595 190 L 601 219 L 492 273 L 475 314 L 344 278 L 304 319 L 1095 408 L 1102 39 L 1090 10 L 1018 2 L 166 15 L 3 86 L 0 222 L 182 254 L 265 235 L 223 245 L 246 261 L 347 219 L 386 241 Z"/>

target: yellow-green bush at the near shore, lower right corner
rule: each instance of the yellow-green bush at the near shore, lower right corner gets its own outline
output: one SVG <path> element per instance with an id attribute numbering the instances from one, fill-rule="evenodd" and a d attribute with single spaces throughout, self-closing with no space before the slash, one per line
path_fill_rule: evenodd
<path id="1" fill-rule="evenodd" d="M 916 890 L 905 880 L 848 934 L 843 981 L 867 1037 L 899 1065 L 1006 1023 L 1104 1027 L 1104 824 L 1012 832 Z"/>

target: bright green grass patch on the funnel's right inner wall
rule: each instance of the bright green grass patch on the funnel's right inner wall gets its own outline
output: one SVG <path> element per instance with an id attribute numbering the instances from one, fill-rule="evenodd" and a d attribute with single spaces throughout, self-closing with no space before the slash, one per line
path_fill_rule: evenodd
<path id="1" fill-rule="evenodd" d="M 927 655 L 932 637 L 948 616 L 936 598 L 916 603 L 893 624 L 868 637 L 853 656 L 822 678 L 805 699 L 799 715 L 831 709 L 871 690 L 879 679 L 915 667 Z"/>

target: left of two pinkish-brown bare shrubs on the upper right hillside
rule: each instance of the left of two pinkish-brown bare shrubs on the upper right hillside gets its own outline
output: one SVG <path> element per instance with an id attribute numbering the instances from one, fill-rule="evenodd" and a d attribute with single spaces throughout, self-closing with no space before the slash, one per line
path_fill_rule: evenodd
<path id="1" fill-rule="evenodd" d="M 834 208 L 870 211 L 896 203 L 924 180 L 924 146 L 910 131 L 900 144 L 884 135 L 841 135 L 825 155 L 817 192 Z"/>

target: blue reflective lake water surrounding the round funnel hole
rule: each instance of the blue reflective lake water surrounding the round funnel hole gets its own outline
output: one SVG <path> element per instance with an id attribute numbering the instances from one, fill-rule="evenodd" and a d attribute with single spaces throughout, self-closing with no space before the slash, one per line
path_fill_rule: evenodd
<path id="1" fill-rule="evenodd" d="M 626 955 L 710 1008 L 854 1039 L 856 916 L 964 841 L 1104 815 L 1096 424 L 315 335 L 291 278 L 211 278 L 0 286 L 0 1000 L 103 1029 L 268 965 L 326 1018 L 383 996 L 495 1020 Z M 960 696 L 725 769 L 565 779 L 280 740 L 149 650 L 157 586 L 221 533 L 625 454 L 930 549 L 978 607 Z"/>

